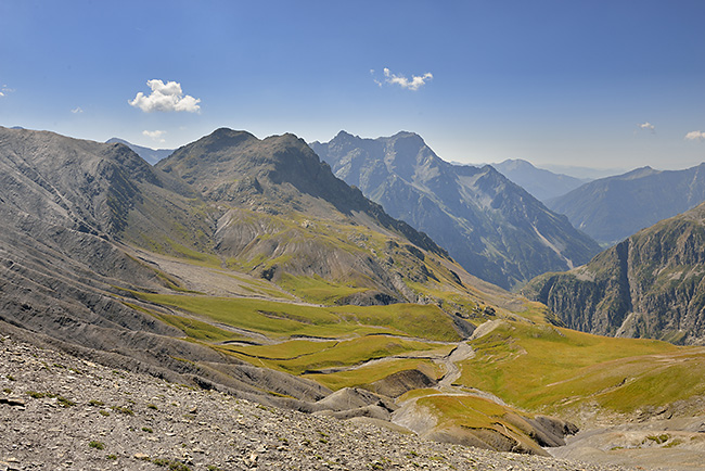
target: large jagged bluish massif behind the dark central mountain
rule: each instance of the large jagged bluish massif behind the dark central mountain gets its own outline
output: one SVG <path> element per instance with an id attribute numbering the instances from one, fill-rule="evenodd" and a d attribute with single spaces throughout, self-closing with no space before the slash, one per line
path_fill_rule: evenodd
<path id="1" fill-rule="evenodd" d="M 451 165 L 412 132 L 373 140 L 341 131 L 310 145 L 337 177 L 500 287 L 584 264 L 599 252 L 564 216 L 491 166 Z"/>

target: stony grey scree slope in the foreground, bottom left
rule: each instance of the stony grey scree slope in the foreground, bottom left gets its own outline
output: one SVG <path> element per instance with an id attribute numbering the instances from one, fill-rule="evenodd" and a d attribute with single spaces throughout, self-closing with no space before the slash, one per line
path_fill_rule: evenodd
<path id="1" fill-rule="evenodd" d="M 424 442 L 111 369 L 0 331 L 0 471 L 623 470 Z"/>

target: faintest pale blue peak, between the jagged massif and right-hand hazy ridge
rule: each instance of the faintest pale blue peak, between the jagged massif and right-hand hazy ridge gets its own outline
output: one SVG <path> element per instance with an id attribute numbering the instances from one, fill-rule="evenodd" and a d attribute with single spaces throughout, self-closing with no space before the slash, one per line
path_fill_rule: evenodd
<path id="1" fill-rule="evenodd" d="M 560 196 L 590 181 L 536 168 L 529 162 L 520 158 L 490 165 L 540 201 Z"/>

